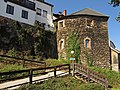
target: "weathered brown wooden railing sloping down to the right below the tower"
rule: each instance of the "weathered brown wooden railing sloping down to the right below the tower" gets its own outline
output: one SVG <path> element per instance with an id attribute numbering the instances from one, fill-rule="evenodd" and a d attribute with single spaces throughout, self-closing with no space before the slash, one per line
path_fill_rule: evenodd
<path id="1" fill-rule="evenodd" d="M 82 74 L 87 77 L 88 81 L 91 79 L 92 81 L 101 84 L 105 88 L 108 88 L 108 80 L 105 76 L 101 75 L 100 73 L 96 73 L 89 68 L 81 65 L 81 64 L 74 64 L 73 71 L 79 74 Z"/>

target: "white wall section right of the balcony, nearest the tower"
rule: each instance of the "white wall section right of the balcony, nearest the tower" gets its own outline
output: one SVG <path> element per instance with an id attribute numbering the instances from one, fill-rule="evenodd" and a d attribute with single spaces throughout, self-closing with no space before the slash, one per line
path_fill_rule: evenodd
<path id="1" fill-rule="evenodd" d="M 52 6 L 50 5 L 47 5 L 45 3 L 42 3 L 42 2 L 39 2 L 39 1 L 35 1 L 36 3 L 36 9 L 37 8 L 40 8 L 42 10 L 42 15 L 39 16 L 39 15 L 36 15 L 35 19 L 38 20 L 39 22 L 41 23 L 46 23 L 46 25 L 50 25 L 51 27 L 53 27 L 53 21 L 52 21 L 52 16 L 53 16 L 53 13 L 52 13 Z M 43 10 L 46 10 L 47 11 L 47 17 L 44 17 L 43 16 Z M 48 28 L 46 26 L 45 28 L 46 30 L 50 30 L 50 28 Z"/>

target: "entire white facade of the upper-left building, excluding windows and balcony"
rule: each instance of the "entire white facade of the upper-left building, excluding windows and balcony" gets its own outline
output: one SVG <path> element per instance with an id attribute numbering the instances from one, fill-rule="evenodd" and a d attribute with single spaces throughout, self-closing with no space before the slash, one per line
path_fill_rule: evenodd
<path id="1" fill-rule="evenodd" d="M 23 7 L 13 2 L 9 2 L 9 0 L 7 2 L 5 2 L 4 0 L 1 0 L 0 1 L 0 16 L 10 18 L 12 20 L 26 23 L 29 25 L 34 25 L 35 21 L 37 20 L 40 23 L 45 24 L 45 30 L 51 30 L 51 27 L 53 27 L 53 23 L 52 23 L 52 7 L 53 6 L 48 3 L 40 2 L 37 0 L 29 0 L 29 1 L 35 3 L 35 10 Z M 9 14 L 6 12 L 7 5 L 14 7 L 13 14 Z M 37 8 L 41 9 L 41 16 L 37 15 Z M 27 19 L 22 17 L 23 10 L 28 12 Z M 43 11 L 47 11 L 47 17 L 43 16 Z"/>

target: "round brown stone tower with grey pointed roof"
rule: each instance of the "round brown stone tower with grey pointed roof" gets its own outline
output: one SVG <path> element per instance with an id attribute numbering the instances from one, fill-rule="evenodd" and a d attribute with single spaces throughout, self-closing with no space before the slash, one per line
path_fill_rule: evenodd
<path id="1" fill-rule="evenodd" d="M 85 8 L 54 20 L 59 57 L 66 57 L 68 32 L 77 30 L 79 31 L 81 63 L 86 65 L 87 53 L 88 57 L 92 57 L 93 65 L 109 68 L 108 18 L 107 15 Z"/>

